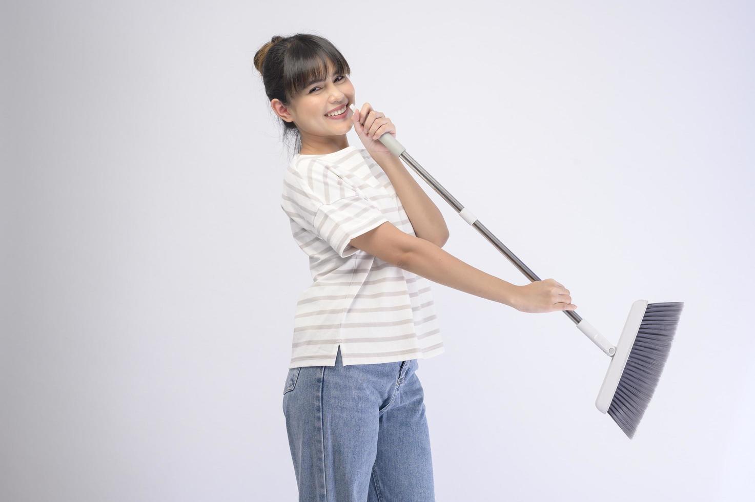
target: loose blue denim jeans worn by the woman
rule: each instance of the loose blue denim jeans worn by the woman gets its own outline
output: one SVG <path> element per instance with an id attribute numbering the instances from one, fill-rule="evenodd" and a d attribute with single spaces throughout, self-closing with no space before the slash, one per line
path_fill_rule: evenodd
<path id="1" fill-rule="evenodd" d="M 288 445 L 300 502 L 435 502 L 417 359 L 288 370 Z"/>

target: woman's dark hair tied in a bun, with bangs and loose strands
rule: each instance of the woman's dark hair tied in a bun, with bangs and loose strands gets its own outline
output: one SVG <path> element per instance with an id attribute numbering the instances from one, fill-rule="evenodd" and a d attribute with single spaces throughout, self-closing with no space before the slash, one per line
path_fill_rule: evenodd
<path id="1" fill-rule="evenodd" d="M 339 75 L 350 75 L 351 69 L 343 54 L 318 35 L 297 33 L 289 37 L 279 35 L 270 38 L 254 54 L 254 67 L 262 75 L 268 100 L 278 99 L 288 106 L 291 99 L 304 91 L 313 81 L 325 80 L 328 76 L 328 60 Z M 294 122 L 283 124 L 283 140 L 293 134 L 294 151 L 301 149 L 301 134 Z"/>

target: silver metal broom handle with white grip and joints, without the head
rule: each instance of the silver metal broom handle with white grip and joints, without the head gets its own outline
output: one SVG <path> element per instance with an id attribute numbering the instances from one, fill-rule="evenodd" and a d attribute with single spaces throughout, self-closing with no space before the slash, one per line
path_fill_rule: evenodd
<path id="1" fill-rule="evenodd" d="M 448 204 L 451 205 L 451 208 L 454 208 L 455 211 L 458 212 L 459 216 L 464 218 L 464 221 L 477 229 L 477 231 L 481 233 L 482 236 L 485 237 L 485 239 L 488 239 L 488 242 L 498 248 L 498 251 L 501 251 L 501 253 L 503 253 L 504 256 L 507 257 L 509 261 L 513 263 L 514 266 L 516 266 L 516 268 L 518 268 L 519 271 L 521 271 L 527 279 L 532 282 L 541 280 L 538 278 L 538 276 L 535 275 L 534 272 L 532 272 L 532 270 L 529 269 L 529 266 L 526 266 L 524 263 L 522 263 L 522 260 L 519 260 L 519 258 L 517 258 L 516 255 L 513 254 L 509 250 L 509 248 L 504 245 L 503 242 L 499 241 L 490 232 L 490 230 L 485 227 L 485 225 L 480 223 L 479 220 L 477 220 L 477 217 L 472 214 L 472 211 L 461 205 L 461 203 L 458 202 L 458 200 L 456 200 L 454 196 L 448 193 L 448 190 L 443 188 L 443 186 L 438 183 L 438 181 L 434 177 L 432 177 L 430 173 L 425 171 L 424 168 L 422 168 L 422 166 L 419 165 L 419 163 L 406 152 L 404 146 L 402 146 L 402 144 L 399 143 L 396 138 L 393 137 L 393 135 L 391 135 L 390 133 L 385 133 L 378 139 L 380 139 L 381 143 L 383 143 L 387 147 L 387 149 L 389 149 L 390 152 L 393 153 L 393 155 L 399 157 L 399 159 L 402 159 L 406 164 L 409 165 L 409 167 L 414 169 L 414 172 L 419 174 L 422 179 L 427 181 L 427 183 L 429 183 L 430 186 L 432 186 L 433 189 L 438 192 L 439 196 L 445 199 L 445 202 L 448 202 Z M 609 356 L 613 356 L 615 354 L 616 347 L 613 346 L 612 343 L 609 342 L 609 340 L 606 340 L 606 338 L 603 337 L 602 334 L 600 334 L 599 331 L 596 330 L 596 328 L 593 328 L 593 325 L 590 325 L 589 322 L 582 319 L 574 310 L 563 310 L 562 312 L 565 313 L 566 316 L 569 317 L 569 319 L 572 319 L 572 321 L 575 322 L 575 325 L 577 325 L 577 328 L 579 328 L 580 331 L 587 335 L 587 338 L 592 340 L 600 350 L 602 350 Z"/>

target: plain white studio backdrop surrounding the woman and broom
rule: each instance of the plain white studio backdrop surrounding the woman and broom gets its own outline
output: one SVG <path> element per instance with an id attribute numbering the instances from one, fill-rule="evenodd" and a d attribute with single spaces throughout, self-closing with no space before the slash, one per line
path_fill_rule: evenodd
<path id="1" fill-rule="evenodd" d="M 252 64 L 296 32 L 330 39 L 357 103 L 609 340 L 634 300 L 685 302 L 629 440 L 570 319 L 433 285 L 437 500 L 750 496 L 753 10 L 4 4 L 0 498 L 297 499 L 281 403 L 310 274 Z M 445 251 L 527 282 L 412 174 Z"/>

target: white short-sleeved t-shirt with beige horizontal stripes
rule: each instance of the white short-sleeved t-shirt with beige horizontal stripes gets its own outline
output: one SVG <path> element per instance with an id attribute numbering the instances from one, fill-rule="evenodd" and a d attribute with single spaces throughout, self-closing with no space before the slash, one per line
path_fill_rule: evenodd
<path id="1" fill-rule="evenodd" d="M 281 208 L 310 259 L 288 368 L 428 359 L 445 350 L 430 281 L 350 245 L 382 223 L 416 236 L 396 190 L 367 149 L 297 154 Z"/>

